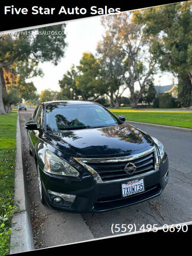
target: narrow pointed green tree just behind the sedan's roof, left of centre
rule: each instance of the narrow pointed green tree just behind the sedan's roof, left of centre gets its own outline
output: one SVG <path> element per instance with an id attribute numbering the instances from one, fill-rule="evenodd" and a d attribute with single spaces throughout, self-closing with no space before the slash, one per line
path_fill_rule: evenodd
<path id="1" fill-rule="evenodd" d="M 59 86 L 61 92 L 58 94 L 58 99 L 81 99 L 81 90 L 77 89 L 76 86 L 77 70 L 73 65 L 66 74 L 63 75 L 63 78 L 59 81 Z M 73 91 L 70 91 L 73 89 Z"/>

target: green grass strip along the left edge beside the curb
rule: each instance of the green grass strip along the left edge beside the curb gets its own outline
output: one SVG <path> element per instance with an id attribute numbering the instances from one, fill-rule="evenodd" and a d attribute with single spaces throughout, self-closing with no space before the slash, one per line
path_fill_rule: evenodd
<path id="1" fill-rule="evenodd" d="M 0 115 L 0 255 L 9 254 L 17 114 Z"/>

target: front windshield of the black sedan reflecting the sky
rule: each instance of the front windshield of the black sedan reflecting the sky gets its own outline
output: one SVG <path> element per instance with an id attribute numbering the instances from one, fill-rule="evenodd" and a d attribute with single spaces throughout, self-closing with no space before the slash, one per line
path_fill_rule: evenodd
<path id="1" fill-rule="evenodd" d="M 99 105 L 46 105 L 45 125 L 50 131 L 89 129 L 118 125 L 117 119 Z"/>

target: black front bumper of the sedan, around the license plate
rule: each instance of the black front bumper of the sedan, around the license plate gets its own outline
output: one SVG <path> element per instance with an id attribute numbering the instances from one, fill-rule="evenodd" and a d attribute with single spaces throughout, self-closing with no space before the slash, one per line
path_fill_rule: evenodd
<path id="1" fill-rule="evenodd" d="M 40 169 L 40 172 L 44 196 L 51 207 L 74 213 L 98 213 L 120 209 L 160 195 L 168 181 L 168 167 L 169 160 L 165 153 L 164 159 L 159 165 L 159 170 L 143 176 L 145 191 L 125 198 L 121 196 L 122 181 L 96 183 L 91 174 L 87 174 L 83 179 L 77 179 L 71 177 L 57 177 L 45 173 L 42 169 Z M 130 177 L 127 180 L 132 179 L 133 178 Z M 47 193 L 48 189 L 58 193 L 76 195 L 76 199 L 71 206 L 63 206 L 62 204 L 54 203 L 52 197 Z"/>

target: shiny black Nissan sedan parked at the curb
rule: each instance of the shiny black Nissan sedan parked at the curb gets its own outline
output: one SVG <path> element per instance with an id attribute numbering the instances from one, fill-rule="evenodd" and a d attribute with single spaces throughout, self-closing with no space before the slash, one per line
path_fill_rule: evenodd
<path id="1" fill-rule="evenodd" d="M 44 102 L 26 129 L 41 202 L 50 207 L 103 212 L 158 196 L 166 186 L 162 143 L 98 103 Z"/>

